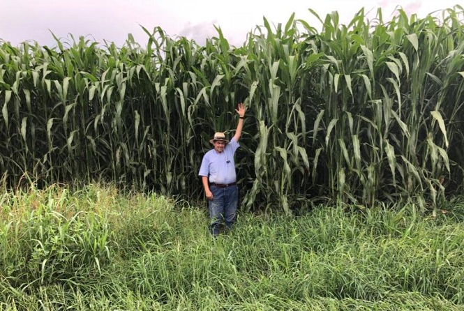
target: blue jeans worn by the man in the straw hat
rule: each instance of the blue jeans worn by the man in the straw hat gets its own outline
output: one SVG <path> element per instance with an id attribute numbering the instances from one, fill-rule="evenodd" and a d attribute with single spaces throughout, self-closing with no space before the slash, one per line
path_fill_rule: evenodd
<path id="1" fill-rule="evenodd" d="M 211 234 L 216 236 L 219 234 L 220 225 L 223 222 L 225 222 L 227 229 L 232 229 L 239 204 L 239 188 L 237 185 L 225 188 L 211 185 L 210 190 L 213 192 L 213 199 L 208 202 Z"/>

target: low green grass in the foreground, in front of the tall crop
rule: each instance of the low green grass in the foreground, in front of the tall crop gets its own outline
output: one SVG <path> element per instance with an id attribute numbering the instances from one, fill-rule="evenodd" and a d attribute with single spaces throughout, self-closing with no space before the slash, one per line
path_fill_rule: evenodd
<path id="1" fill-rule="evenodd" d="M 217 239 L 206 208 L 111 185 L 0 202 L 0 310 L 464 310 L 459 198 L 241 213 Z"/>

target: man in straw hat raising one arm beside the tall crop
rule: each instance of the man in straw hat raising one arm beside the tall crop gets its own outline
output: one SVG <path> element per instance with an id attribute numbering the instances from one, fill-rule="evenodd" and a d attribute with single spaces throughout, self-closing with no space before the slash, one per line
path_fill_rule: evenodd
<path id="1" fill-rule="evenodd" d="M 204 154 L 199 176 L 202 177 L 204 195 L 209 200 L 209 217 L 211 218 L 211 234 L 219 234 L 220 225 L 231 229 L 237 215 L 239 203 L 239 188 L 235 172 L 234 153 L 239 148 L 241 129 L 244 127 L 245 105 L 239 103 L 237 130 L 230 142 L 225 139 L 223 132 L 216 132 L 209 142 L 211 149 Z"/>

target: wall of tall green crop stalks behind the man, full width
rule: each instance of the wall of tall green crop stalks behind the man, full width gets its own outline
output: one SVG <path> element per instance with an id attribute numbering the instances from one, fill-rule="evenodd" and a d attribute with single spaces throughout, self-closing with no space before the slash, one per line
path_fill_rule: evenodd
<path id="1" fill-rule="evenodd" d="M 200 46 L 144 29 L 147 45 L 84 38 L 0 45 L 0 169 L 6 185 L 102 179 L 202 197 L 215 131 L 233 135 L 245 208 L 319 199 L 435 206 L 463 184 L 464 10 L 388 22 L 338 13 L 318 32 L 290 17 L 241 47 L 220 28 Z M 280 206 L 280 207 L 275 207 Z"/>

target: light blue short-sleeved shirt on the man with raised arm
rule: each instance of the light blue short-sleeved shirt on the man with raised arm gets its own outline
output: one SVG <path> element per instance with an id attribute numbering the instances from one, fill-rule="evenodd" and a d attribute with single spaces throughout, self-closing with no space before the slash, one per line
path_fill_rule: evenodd
<path id="1" fill-rule="evenodd" d="M 199 176 L 207 176 L 210 183 L 234 183 L 237 180 L 235 173 L 234 153 L 240 144 L 232 138 L 226 144 L 223 152 L 211 149 L 204 154 Z"/>

